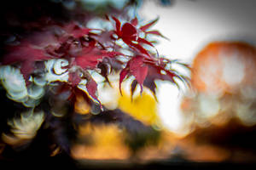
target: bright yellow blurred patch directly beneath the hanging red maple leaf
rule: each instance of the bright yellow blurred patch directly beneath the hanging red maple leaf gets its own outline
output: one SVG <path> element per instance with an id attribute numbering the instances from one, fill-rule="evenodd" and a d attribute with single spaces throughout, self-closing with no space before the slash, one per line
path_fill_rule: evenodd
<path id="1" fill-rule="evenodd" d="M 131 95 L 123 94 L 119 98 L 119 109 L 147 125 L 159 125 L 157 105 L 154 97 L 147 92 L 131 99 Z"/>

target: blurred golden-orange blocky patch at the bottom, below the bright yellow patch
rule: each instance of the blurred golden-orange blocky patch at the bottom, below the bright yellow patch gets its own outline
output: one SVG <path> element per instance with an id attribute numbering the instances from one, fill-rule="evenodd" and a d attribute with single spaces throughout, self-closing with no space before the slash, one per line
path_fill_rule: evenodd
<path id="1" fill-rule="evenodd" d="M 124 142 L 124 132 L 113 124 L 86 124 L 79 128 L 79 138 L 90 138 L 91 143 L 74 144 L 72 156 L 75 159 L 124 160 L 131 154 Z"/>

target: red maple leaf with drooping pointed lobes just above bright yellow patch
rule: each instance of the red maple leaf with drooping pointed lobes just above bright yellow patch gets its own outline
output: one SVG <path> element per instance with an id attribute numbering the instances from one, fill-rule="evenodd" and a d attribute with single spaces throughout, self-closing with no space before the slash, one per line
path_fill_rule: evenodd
<path id="1" fill-rule="evenodd" d="M 179 88 L 177 82 L 174 79 L 174 77 L 177 77 L 177 79 L 189 85 L 187 77 L 183 77 L 183 75 L 180 75 L 177 71 L 166 69 L 166 65 L 171 65 L 173 62 L 176 62 L 176 60 L 169 60 L 163 58 L 147 59 L 143 55 L 137 55 L 131 58 L 128 61 L 126 67 L 120 72 L 120 93 L 121 83 L 125 80 L 125 77 L 130 76 L 135 77 L 135 80 L 131 83 L 131 95 L 134 93 L 137 84 L 139 84 L 141 87 L 141 93 L 143 92 L 143 86 L 145 86 L 155 94 L 155 80 L 169 81 L 177 85 L 177 88 Z M 183 66 L 189 68 L 188 65 Z"/>

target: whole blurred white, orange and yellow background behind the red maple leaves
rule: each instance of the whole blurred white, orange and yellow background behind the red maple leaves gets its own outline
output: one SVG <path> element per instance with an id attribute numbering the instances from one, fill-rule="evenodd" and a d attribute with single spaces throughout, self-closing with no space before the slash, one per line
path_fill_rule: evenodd
<path id="1" fill-rule="evenodd" d="M 75 1 L 51 1 L 75 10 Z M 190 87 L 180 83 L 178 89 L 169 82 L 158 81 L 156 97 L 145 88 L 142 95 L 136 90 L 131 100 L 129 85 L 124 83 L 124 95 L 119 94 L 116 76 L 109 80 L 113 87 L 99 86 L 99 99 L 108 108 L 100 112 L 84 101 L 76 99 L 75 111 L 79 120 L 76 139 L 70 146 L 72 159 L 81 167 L 130 168 L 133 163 L 144 166 L 183 167 L 182 163 L 230 163 L 246 166 L 256 162 L 256 2 L 254 0 L 144 0 L 144 1 L 81 1 L 89 14 L 101 15 L 105 10 L 120 14 L 127 3 L 130 18 L 139 23 L 159 17 L 153 26 L 167 39 L 156 44 L 160 55 L 178 59 L 190 70 L 173 65 L 190 78 Z M 77 17 L 77 16 L 76 16 Z M 100 20 L 100 19 L 99 19 Z M 102 21 L 90 20 L 90 26 L 102 26 Z M 143 25 L 142 24 L 142 25 Z M 154 40 L 154 37 L 152 37 Z M 95 77 L 100 79 L 101 77 Z M 1 94 L 2 95 L 2 94 Z M 4 96 L 3 94 L 2 96 Z M 42 123 L 24 116 L 11 123 L 20 128 L 32 123 L 34 131 Z M 41 119 L 40 119 L 41 117 Z M 82 120 L 82 121 L 81 121 Z M 36 124 L 36 125 L 34 125 Z M 39 128 L 39 127 L 38 127 Z M 25 130 L 24 130 L 25 129 Z M 0 144 L 0 155 L 25 153 L 20 145 L 31 144 L 35 134 L 24 127 L 12 138 L 3 133 L 6 149 Z M 27 134 L 29 131 L 29 135 Z M 60 130 L 61 131 L 61 130 Z M 17 131 L 16 131 L 17 132 Z M 43 132 L 44 140 L 47 132 Z M 56 134 L 60 134 L 59 132 Z M 21 137 L 20 137 L 20 136 Z M 44 144 L 36 137 L 33 147 Z M 46 139 L 45 139 L 46 138 Z M 55 136 L 59 138 L 59 136 Z M 62 139 L 60 137 L 61 142 Z M 65 141 L 63 142 L 65 143 Z M 65 143 L 66 144 L 66 143 Z M 65 145 L 64 144 L 64 145 Z M 51 156 L 58 156 L 60 148 L 54 144 Z M 48 147 L 48 146 L 47 146 Z M 22 147 L 21 147 L 22 148 Z M 44 147 L 43 147 L 44 148 Z M 14 151 L 15 150 L 15 151 Z M 18 150 L 18 151 L 17 151 Z M 40 149 L 42 153 L 44 149 Z M 20 154 L 22 156 L 22 154 Z M 19 155 L 19 154 L 18 154 Z M 17 156 L 19 157 L 19 156 Z M 1 156 L 0 156 L 1 158 Z M 155 164 L 152 162 L 156 162 Z M 163 164 L 164 162 L 164 164 Z M 121 163 L 119 165 L 119 163 Z M 103 165 L 103 166 L 102 166 Z M 212 166 L 212 164 L 210 164 Z M 194 166 L 195 164 L 189 164 Z M 196 164 L 197 166 L 197 164 Z M 141 167 L 139 167 L 141 168 Z"/>

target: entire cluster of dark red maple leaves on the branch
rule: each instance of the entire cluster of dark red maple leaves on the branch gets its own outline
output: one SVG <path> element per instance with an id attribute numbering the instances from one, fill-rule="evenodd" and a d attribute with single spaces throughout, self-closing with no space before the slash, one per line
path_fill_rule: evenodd
<path id="1" fill-rule="evenodd" d="M 176 61 L 161 58 L 154 42 L 148 41 L 148 35 L 163 37 L 159 31 L 149 30 L 157 20 L 139 26 L 137 18 L 122 23 L 114 16 L 106 17 L 106 21 L 113 25 L 110 30 L 91 29 L 74 21 L 65 24 L 49 22 L 49 26 L 9 45 L 1 65 L 12 65 L 18 69 L 26 87 L 36 83 L 38 77 L 47 85 L 59 83 L 62 87 L 59 88 L 60 94 L 63 89 L 69 90 L 70 96 L 67 99 L 83 91 L 88 98 L 101 105 L 97 99 L 97 83 L 91 71 L 101 74 L 109 84 L 108 75 L 113 71 L 119 72 L 120 92 L 122 82 L 128 77 L 134 77 L 131 94 L 137 84 L 141 93 L 143 87 L 147 87 L 155 94 L 155 80 L 177 84 L 177 77 L 186 82 L 186 77 L 171 68 Z M 119 41 L 125 47 L 119 45 Z M 154 51 L 147 46 L 154 48 Z M 123 53 L 123 48 L 130 54 Z M 2 77 L 2 82 L 7 82 L 7 79 Z"/>

